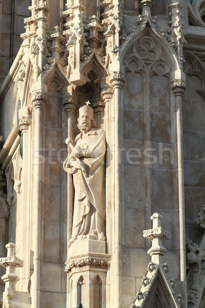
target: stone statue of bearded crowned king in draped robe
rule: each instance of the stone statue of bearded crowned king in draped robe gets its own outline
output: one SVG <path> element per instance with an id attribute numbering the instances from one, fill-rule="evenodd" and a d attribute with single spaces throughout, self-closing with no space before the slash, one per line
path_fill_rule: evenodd
<path id="1" fill-rule="evenodd" d="M 80 133 L 64 162 L 66 172 L 73 174 L 75 188 L 71 245 L 76 239 L 105 240 L 105 131 L 96 129 L 93 108 L 79 108 Z"/>

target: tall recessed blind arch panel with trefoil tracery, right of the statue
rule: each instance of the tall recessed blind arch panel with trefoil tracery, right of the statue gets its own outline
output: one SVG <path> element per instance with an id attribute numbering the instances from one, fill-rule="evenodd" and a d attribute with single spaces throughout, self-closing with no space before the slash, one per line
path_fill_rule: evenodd
<path id="1" fill-rule="evenodd" d="M 178 64 L 165 42 L 151 28 L 132 37 L 121 53 L 125 69 L 124 140 L 125 158 L 125 230 L 124 244 L 145 247 L 137 232 L 149 224 L 145 217 L 154 208 L 166 210 L 172 217 L 178 200 L 173 193 L 176 142 L 173 118 L 175 98 L 171 91 L 171 72 Z M 175 186 L 174 186 L 175 185 Z M 136 210 L 137 209 L 137 210 Z M 130 223 L 130 219 L 133 223 Z M 170 232 L 172 232 L 170 226 Z M 173 249 L 173 243 L 167 243 Z"/>

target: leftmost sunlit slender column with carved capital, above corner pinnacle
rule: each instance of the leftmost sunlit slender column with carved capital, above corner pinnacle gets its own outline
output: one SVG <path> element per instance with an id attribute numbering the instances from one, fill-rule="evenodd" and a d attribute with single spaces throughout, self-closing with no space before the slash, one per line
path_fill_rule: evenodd
<path id="1" fill-rule="evenodd" d="M 29 251 L 29 243 L 28 243 L 28 237 L 29 237 L 29 208 L 28 208 L 28 187 L 30 187 L 30 173 L 29 173 L 29 155 L 27 153 L 28 147 L 29 147 L 29 139 L 27 131 L 29 129 L 29 126 L 31 124 L 31 115 L 30 110 L 28 107 L 24 107 L 19 109 L 18 111 L 19 115 L 19 122 L 18 125 L 20 127 L 20 131 L 22 132 L 22 138 L 23 138 L 23 159 L 22 159 L 22 239 L 20 241 L 20 256 L 25 260 L 25 266 L 23 268 L 23 271 L 21 271 L 21 277 L 20 277 L 20 288 L 23 290 L 25 278 L 29 277 L 29 264 L 28 264 L 28 251 Z M 26 245 L 26 246 L 25 246 Z M 26 254 L 26 258 L 25 258 Z M 28 279 L 28 278 L 27 278 Z M 27 280 L 28 283 L 28 280 Z"/>

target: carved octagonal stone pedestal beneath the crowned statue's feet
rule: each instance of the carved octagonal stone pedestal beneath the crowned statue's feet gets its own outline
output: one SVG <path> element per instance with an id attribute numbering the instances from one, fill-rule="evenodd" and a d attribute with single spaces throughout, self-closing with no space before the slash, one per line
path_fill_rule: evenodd
<path id="1" fill-rule="evenodd" d="M 77 307 L 81 303 L 83 307 L 96 307 L 100 301 L 100 307 L 106 308 L 106 272 L 110 264 L 110 255 L 82 255 L 79 249 L 81 251 L 80 246 L 78 256 L 70 257 L 66 261 L 65 271 L 69 275 L 69 306 Z"/>

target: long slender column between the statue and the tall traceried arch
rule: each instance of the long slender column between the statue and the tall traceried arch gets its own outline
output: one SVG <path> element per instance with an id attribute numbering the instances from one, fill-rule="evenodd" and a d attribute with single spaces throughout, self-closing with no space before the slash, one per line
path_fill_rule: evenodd
<path id="1" fill-rule="evenodd" d="M 123 123 L 123 108 L 121 106 L 121 98 L 122 95 L 122 87 L 125 82 L 124 75 L 121 73 L 115 73 L 111 75 L 111 86 L 114 92 L 114 117 L 115 117 L 115 151 L 114 151 L 114 162 L 115 162 L 115 264 L 116 264 L 116 307 L 122 306 L 122 299 L 121 299 L 121 249 L 122 249 L 122 241 L 121 241 L 121 223 L 122 223 L 122 208 L 124 207 L 123 204 L 123 187 L 124 184 L 124 169 L 123 164 L 121 164 L 121 154 L 120 150 L 124 147 L 122 144 L 122 136 L 124 127 Z"/>

